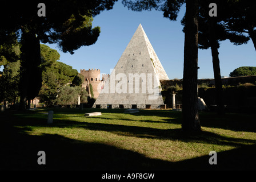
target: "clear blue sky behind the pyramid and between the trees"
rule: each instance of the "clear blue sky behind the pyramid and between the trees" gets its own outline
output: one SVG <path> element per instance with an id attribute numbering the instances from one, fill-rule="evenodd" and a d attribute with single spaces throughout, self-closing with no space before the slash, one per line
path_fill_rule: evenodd
<path id="1" fill-rule="evenodd" d="M 80 69 L 97 68 L 101 73 L 110 73 L 141 23 L 169 78 L 182 78 L 184 33 L 181 19 L 184 14 L 185 6 L 177 21 L 170 21 L 163 18 L 162 11 L 135 12 L 118 1 L 112 10 L 94 17 L 93 27 L 101 27 L 101 34 L 92 46 L 81 47 L 73 55 L 61 52 L 54 44 L 47 46 L 57 49 L 61 55 L 59 61 L 71 65 L 78 72 Z M 256 52 L 251 40 L 242 46 L 234 46 L 228 40 L 221 42 L 219 59 L 222 76 L 229 76 L 238 67 L 256 66 Z M 198 78 L 214 78 L 210 49 L 199 49 L 198 66 Z"/>

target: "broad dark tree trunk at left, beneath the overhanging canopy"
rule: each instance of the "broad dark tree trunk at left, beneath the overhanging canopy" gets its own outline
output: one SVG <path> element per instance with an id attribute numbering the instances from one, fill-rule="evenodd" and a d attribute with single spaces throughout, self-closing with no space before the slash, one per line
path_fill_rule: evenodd
<path id="1" fill-rule="evenodd" d="M 32 30 L 33 28 L 31 28 Z M 35 97 L 42 86 L 40 42 L 34 31 L 23 28 L 21 38 L 21 100 L 19 110 L 26 109 L 27 98 Z"/>

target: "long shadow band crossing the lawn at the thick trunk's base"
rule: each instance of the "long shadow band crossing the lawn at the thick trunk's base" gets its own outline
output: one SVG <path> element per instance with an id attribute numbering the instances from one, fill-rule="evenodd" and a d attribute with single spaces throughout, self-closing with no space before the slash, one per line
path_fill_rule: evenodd
<path id="1" fill-rule="evenodd" d="M 21 118 L 15 118 L 21 119 Z M 175 119 L 174 119 L 175 120 Z M 120 124 L 110 123 L 97 123 L 97 122 L 78 122 L 70 121 L 66 119 L 56 120 L 52 125 L 47 125 L 46 120 L 43 118 L 25 118 L 21 119 L 18 125 L 21 126 L 48 126 L 48 127 L 70 127 L 70 128 L 83 128 L 95 131 L 108 131 L 121 136 L 138 137 L 138 138 L 152 138 L 152 139 L 169 139 L 169 140 L 181 140 L 183 142 L 196 142 L 196 143 L 210 143 L 221 144 L 227 146 L 243 146 L 243 143 L 255 143 L 255 140 L 223 137 L 221 135 L 211 133 L 208 131 L 201 131 L 197 134 L 188 134 L 181 128 L 179 129 L 156 129 L 152 127 L 142 126 L 127 126 Z M 146 121 L 150 122 L 150 121 Z M 179 120 L 173 123 L 179 123 Z"/>

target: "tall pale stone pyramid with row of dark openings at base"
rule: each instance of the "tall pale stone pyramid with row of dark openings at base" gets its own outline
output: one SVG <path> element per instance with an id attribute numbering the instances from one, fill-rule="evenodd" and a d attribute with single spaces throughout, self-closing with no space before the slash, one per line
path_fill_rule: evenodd
<path id="1" fill-rule="evenodd" d="M 157 109 L 163 105 L 159 80 L 169 80 L 141 24 L 93 107 Z"/>

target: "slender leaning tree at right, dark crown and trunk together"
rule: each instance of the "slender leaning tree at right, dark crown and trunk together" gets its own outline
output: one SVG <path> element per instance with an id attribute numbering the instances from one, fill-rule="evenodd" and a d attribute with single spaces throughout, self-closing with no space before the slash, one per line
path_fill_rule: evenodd
<path id="1" fill-rule="evenodd" d="M 217 16 L 209 15 L 209 5 L 215 3 L 217 5 Z M 221 68 L 219 67 L 219 52 L 218 48 L 221 41 L 229 39 L 235 45 L 245 44 L 249 41 L 249 37 L 238 32 L 230 31 L 224 20 L 233 16 L 234 3 L 223 0 L 204 0 L 199 3 L 199 34 L 198 44 L 201 49 L 211 48 L 213 57 L 213 71 L 215 78 L 215 90 L 217 95 L 218 114 L 223 114 L 224 105 L 222 98 L 222 82 Z M 186 19 L 183 18 L 182 24 L 186 24 Z"/>

